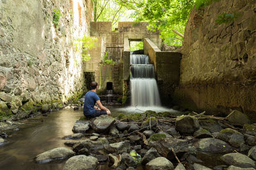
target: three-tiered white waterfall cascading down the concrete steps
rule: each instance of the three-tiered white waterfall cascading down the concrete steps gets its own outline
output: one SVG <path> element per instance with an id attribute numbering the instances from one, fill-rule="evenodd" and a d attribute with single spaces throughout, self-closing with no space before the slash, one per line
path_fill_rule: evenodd
<path id="1" fill-rule="evenodd" d="M 132 106 L 161 106 L 154 75 L 154 66 L 148 64 L 148 55 L 131 55 Z"/>

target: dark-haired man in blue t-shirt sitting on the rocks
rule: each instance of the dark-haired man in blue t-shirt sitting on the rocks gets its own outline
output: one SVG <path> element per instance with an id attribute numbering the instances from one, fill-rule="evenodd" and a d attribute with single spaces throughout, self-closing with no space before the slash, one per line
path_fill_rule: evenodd
<path id="1" fill-rule="evenodd" d="M 99 117 L 100 115 L 111 115 L 111 112 L 108 108 L 104 107 L 100 102 L 100 97 L 96 94 L 98 89 L 98 83 L 93 81 L 91 83 L 92 90 L 88 91 L 84 96 L 84 116 L 93 118 Z M 98 104 L 99 108 L 95 106 L 95 103 Z"/>

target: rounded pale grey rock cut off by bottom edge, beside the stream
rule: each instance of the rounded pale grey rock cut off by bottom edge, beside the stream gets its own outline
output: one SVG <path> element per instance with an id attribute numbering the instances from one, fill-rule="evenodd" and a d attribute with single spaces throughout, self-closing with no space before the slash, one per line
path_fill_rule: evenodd
<path id="1" fill-rule="evenodd" d="M 71 157 L 65 163 L 63 170 L 86 170 L 97 169 L 98 160 L 95 157 L 87 157 L 86 155 L 77 155 Z"/>

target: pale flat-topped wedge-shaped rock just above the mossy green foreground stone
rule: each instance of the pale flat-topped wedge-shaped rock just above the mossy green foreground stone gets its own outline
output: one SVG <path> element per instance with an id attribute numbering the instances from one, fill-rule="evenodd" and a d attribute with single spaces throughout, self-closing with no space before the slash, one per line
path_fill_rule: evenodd
<path id="1" fill-rule="evenodd" d="M 122 141 L 119 143 L 112 143 L 109 145 L 104 145 L 104 149 L 108 153 L 127 153 L 130 152 L 131 145 L 129 142 Z"/>

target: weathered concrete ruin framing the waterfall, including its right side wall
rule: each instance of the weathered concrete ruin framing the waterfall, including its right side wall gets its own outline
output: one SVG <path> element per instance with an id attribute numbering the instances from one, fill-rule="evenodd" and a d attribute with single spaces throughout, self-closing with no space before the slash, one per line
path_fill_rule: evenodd
<path id="1" fill-rule="evenodd" d="M 101 92 L 112 82 L 116 94 L 129 95 L 130 42 L 143 41 L 143 53 L 149 55 L 150 63 L 154 64 L 161 96 L 172 99 L 179 84 L 181 54 L 162 52 L 159 31 L 148 31 L 147 25 L 147 22 L 118 22 L 118 28 L 112 31 L 111 22 L 91 22 L 90 36 L 97 38 L 97 46 L 90 51 L 92 59 L 85 62 L 84 72 L 94 76 Z M 116 64 L 104 64 L 106 54 Z"/>

